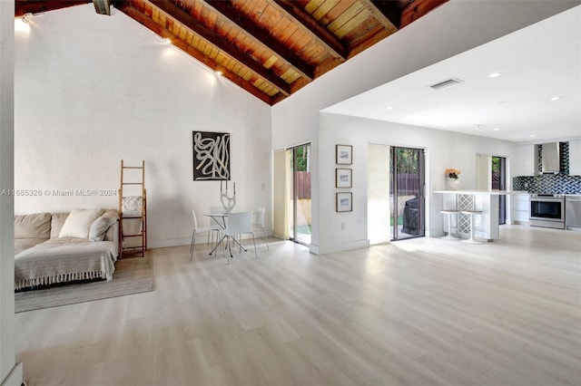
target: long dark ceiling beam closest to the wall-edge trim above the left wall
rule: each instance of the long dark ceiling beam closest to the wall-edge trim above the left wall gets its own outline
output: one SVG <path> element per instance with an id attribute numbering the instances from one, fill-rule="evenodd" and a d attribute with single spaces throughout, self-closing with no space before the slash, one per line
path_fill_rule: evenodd
<path id="1" fill-rule="evenodd" d="M 261 63 L 252 60 L 250 56 L 242 53 L 238 47 L 223 39 L 219 34 L 216 34 L 205 25 L 198 23 L 192 15 L 183 11 L 183 9 L 178 5 L 167 0 L 150 0 L 150 3 L 160 8 L 162 12 L 170 15 L 180 24 L 191 29 L 195 34 L 202 36 L 203 39 L 218 47 L 224 53 L 231 56 L 231 58 L 248 67 L 252 72 L 257 73 L 259 76 L 264 78 L 266 82 L 271 83 L 272 86 L 276 87 L 285 95 L 288 96 L 291 94 L 291 85 L 289 83 L 284 82 L 278 75 L 270 72 L 267 68 L 261 65 Z M 214 64 L 212 68 L 215 66 L 216 65 Z"/>

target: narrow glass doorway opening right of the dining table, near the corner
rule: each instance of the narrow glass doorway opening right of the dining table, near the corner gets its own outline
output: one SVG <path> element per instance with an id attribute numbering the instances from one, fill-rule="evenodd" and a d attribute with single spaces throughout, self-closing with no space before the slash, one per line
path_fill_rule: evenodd
<path id="1" fill-rule="evenodd" d="M 310 143 L 286 150 L 289 239 L 310 245 Z"/>

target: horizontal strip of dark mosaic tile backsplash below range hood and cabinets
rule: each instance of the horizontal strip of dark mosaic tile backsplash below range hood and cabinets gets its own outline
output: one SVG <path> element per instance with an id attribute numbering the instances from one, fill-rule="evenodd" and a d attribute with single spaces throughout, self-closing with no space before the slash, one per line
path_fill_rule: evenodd
<path id="1" fill-rule="evenodd" d="M 530 193 L 581 194 L 581 176 L 545 174 L 542 176 L 518 176 L 512 179 L 513 190 Z"/>

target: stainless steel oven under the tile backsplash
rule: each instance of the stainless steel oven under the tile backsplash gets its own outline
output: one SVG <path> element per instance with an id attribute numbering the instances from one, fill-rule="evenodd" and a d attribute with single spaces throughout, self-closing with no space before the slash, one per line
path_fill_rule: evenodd
<path id="1" fill-rule="evenodd" d="M 528 219 L 531 227 L 565 229 L 565 197 L 560 194 L 532 194 Z"/>

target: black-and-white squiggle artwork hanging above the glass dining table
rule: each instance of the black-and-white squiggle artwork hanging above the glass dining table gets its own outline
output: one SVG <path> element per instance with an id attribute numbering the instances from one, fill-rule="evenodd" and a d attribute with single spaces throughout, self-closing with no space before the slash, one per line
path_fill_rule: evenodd
<path id="1" fill-rule="evenodd" d="M 193 180 L 230 179 L 230 133 L 192 131 Z"/>

